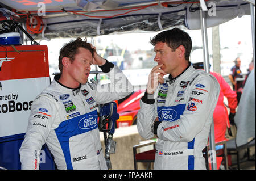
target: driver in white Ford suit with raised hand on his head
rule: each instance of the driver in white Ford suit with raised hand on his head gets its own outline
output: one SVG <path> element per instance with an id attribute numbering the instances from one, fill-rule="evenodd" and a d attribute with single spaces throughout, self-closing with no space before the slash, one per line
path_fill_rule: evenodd
<path id="1" fill-rule="evenodd" d="M 98 65 L 112 82 L 102 86 L 90 84 L 92 64 Z M 99 56 L 86 39 L 77 38 L 61 48 L 59 69 L 61 74 L 32 104 L 19 150 L 22 169 L 39 169 L 40 149 L 45 143 L 57 169 L 107 169 L 97 104 L 124 98 L 132 86 L 122 71 Z"/>

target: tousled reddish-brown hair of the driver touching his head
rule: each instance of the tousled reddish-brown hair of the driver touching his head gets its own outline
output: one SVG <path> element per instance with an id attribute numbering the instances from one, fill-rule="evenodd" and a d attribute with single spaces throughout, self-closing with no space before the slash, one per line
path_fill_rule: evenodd
<path id="1" fill-rule="evenodd" d="M 60 49 L 60 56 L 59 56 L 59 69 L 60 72 L 62 72 L 63 64 L 62 64 L 62 58 L 63 57 L 68 57 L 70 58 L 71 62 L 75 60 L 75 55 L 78 54 L 78 49 L 82 47 L 85 49 L 88 49 L 90 53 L 93 52 L 94 49 L 91 47 L 91 44 L 87 42 L 87 39 L 85 38 L 84 40 L 81 39 L 81 37 L 78 37 L 76 40 L 71 40 L 69 43 L 65 44 L 61 49 Z"/>

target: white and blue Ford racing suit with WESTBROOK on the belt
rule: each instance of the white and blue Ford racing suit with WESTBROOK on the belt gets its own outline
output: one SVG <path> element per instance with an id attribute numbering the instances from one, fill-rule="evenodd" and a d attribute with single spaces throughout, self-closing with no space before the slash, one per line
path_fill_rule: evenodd
<path id="1" fill-rule="evenodd" d="M 156 117 L 161 121 L 154 169 L 205 169 L 202 150 L 220 92 L 216 78 L 190 64 L 175 79 L 164 78 L 157 90 L 155 99 L 142 97 L 137 117 L 139 134 L 146 139 L 154 136 L 151 126 Z"/>

